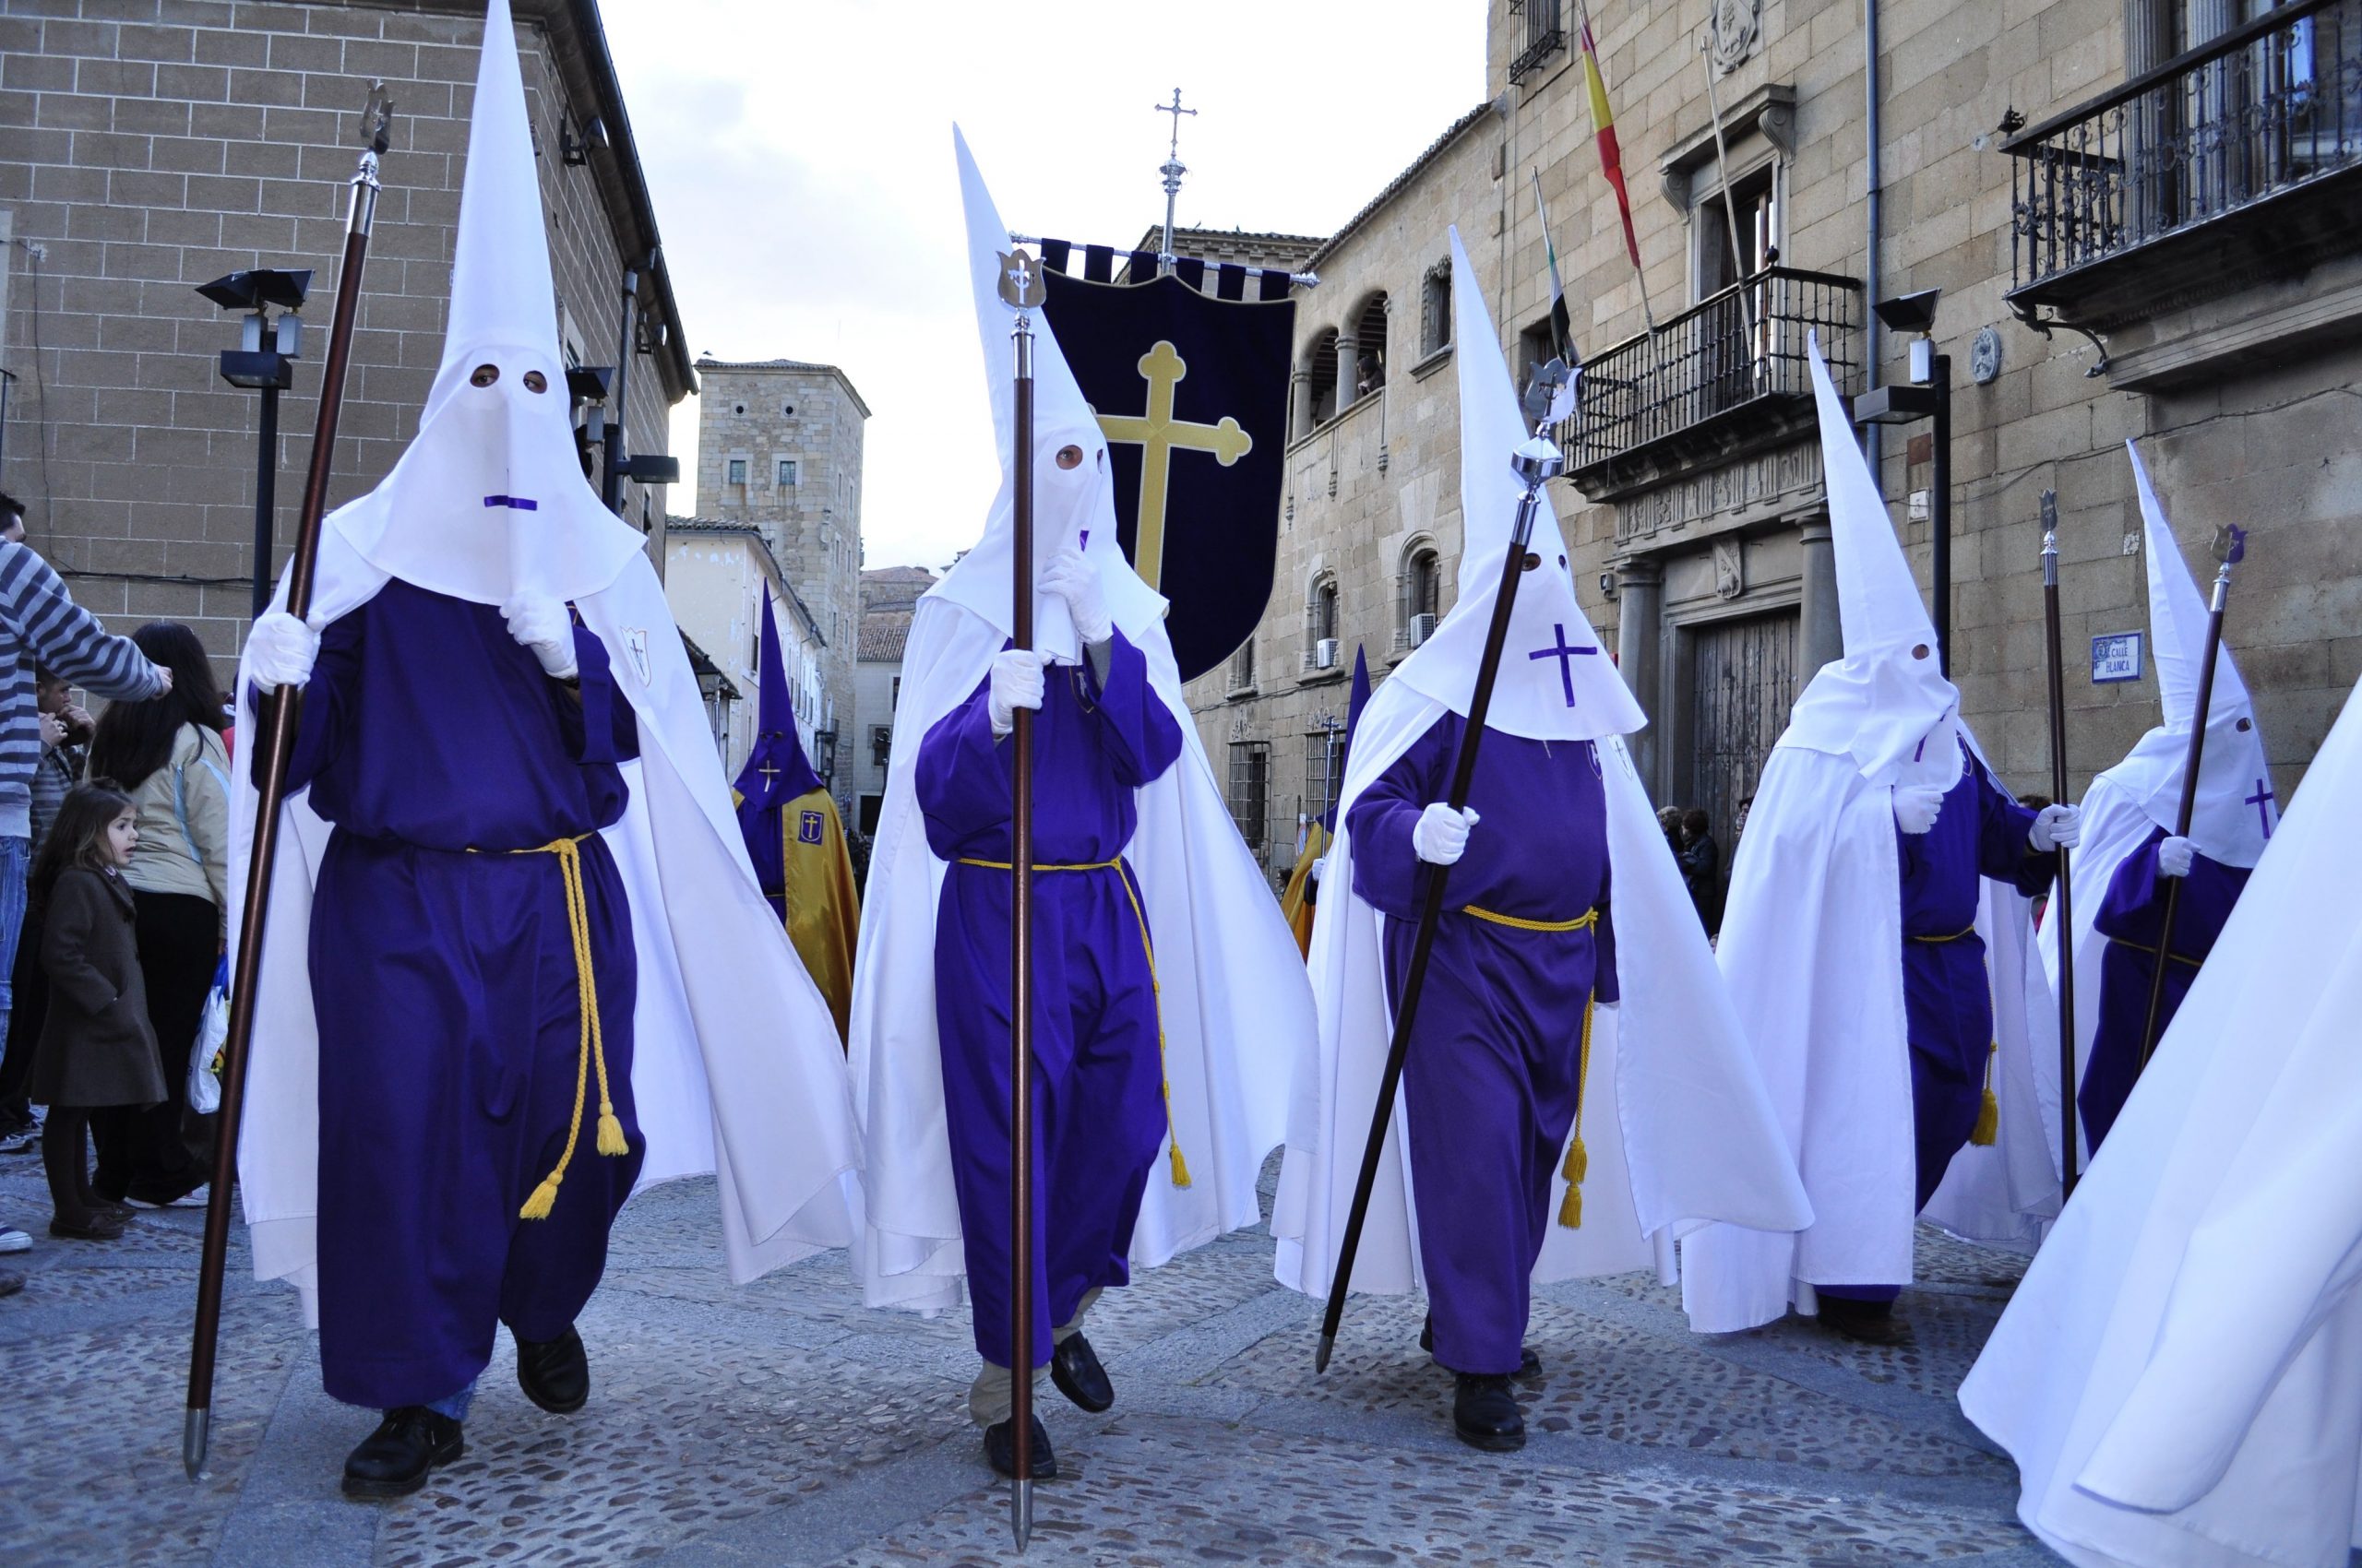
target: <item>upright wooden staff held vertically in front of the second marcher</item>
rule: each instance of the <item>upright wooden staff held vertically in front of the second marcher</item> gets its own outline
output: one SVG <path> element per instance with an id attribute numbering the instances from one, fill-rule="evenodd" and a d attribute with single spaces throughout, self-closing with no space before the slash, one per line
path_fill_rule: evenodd
<path id="1" fill-rule="evenodd" d="M 1001 257 L 1001 300 L 1016 307 L 1016 489 L 1009 548 L 1009 640 L 1032 652 L 1032 309 L 1046 286 L 1030 255 Z M 1009 1528 L 1032 1540 L 1032 708 L 1009 716 Z"/>

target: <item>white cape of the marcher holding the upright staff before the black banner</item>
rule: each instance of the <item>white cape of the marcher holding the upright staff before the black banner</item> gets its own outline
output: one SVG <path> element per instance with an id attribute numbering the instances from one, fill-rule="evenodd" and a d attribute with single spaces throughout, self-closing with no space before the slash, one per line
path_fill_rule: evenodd
<path id="1" fill-rule="evenodd" d="M 1190 1169 L 1188 1188 L 1169 1181 L 1164 1159 L 1150 1171 L 1131 1263 L 1153 1268 L 1261 1219 L 1257 1181 L 1285 1131 L 1290 1065 L 1311 1039 L 1313 1008 L 1280 904 L 1221 803 L 1164 626 L 1124 635 L 1183 737 L 1164 777 L 1136 793 L 1138 831 L 1124 845 L 1157 954 L 1172 1136 Z M 992 621 L 928 593 L 902 654 L 853 975 L 853 1084 L 869 1145 L 853 1263 L 869 1306 L 950 1308 L 966 1275 L 935 1037 L 945 864 L 926 843 L 914 772 L 926 732 L 968 699 L 1001 642 Z"/>

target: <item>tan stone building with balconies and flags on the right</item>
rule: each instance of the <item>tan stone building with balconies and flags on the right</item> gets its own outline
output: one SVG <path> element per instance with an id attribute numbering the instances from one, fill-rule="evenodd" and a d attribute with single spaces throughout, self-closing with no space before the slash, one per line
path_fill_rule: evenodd
<path id="1" fill-rule="evenodd" d="M 1495 97 L 1332 236 L 1299 293 L 1278 588 L 1252 654 L 1190 687 L 1249 843 L 1280 860 L 1320 810 L 1353 647 L 1382 675 L 1450 607 L 1443 229 L 1523 368 L 1549 312 L 1535 177 L 1585 357 L 1554 498 L 1585 609 L 1651 716 L 1637 756 L 1660 803 L 1705 805 L 1727 834 L 1795 692 L 1840 652 L 1805 333 L 1847 394 L 1908 383 L 1911 333 L 1880 331 L 1873 302 L 1930 288 L 1953 427 L 1951 673 L 2003 777 L 2048 791 L 2043 491 L 2074 789 L 2157 718 L 2147 661 L 2121 682 L 2088 661 L 2093 638 L 2147 619 L 2138 439 L 2201 576 L 2220 524 L 2253 529 L 2227 638 L 2272 784 L 2294 791 L 2362 675 L 2362 241 L 2345 217 L 2362 5 L 1599 2 L 1639 276 L 1575 7 L 1488 5 Z M 1930 583 L 1946 510 L 1930 427 L 1878 430 Z"/>

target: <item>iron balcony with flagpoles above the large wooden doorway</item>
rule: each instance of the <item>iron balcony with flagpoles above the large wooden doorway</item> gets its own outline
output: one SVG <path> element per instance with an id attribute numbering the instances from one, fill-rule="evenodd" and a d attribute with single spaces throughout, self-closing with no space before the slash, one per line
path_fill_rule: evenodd
<path id="1" fill-rule="evenodd" d="M 1568 477 L 1592 501 L 1618 501 L 1814 430 L 1805 338 L 1819 333 L 1845 392 L 1859 321 L 1857 279 L 1764 267 L 1618 342 L 1583 366 Z"/>

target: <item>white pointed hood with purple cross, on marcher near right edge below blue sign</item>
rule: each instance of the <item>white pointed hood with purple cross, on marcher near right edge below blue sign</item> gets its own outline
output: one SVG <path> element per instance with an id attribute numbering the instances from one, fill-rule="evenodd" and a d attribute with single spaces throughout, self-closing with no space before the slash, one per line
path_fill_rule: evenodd
<path id="1" fill-rule="evenodd" d="M 2149 470 L 2131 442 L 2133 486 L 2140 491 L 2140 520 L 2147 529 L 2149 557 L 2149 659 L 2157 664 L 2157 697 L 2164 706 L 2159 727 L 2140 737 L 2107 777 L 2126 789 L 2142 815 L 2168 834 L 2182 810 L 2182 763 L 2190 760 L 2190 725 L 2199 706 L 2199 668 L 2206 659 L 2206 597 L 2190 576 L 2173 524 L 2157 503 Z M 2230 645 L 2216 649 L 2216 685 L 2206 704 L 2206 753 L 2199 758 L 2199 796 L 2190 815 L 2190 836 L 2208 860 L 2227 867 L 2253 867 L 2263 845 L 2279 827 L 2272 798 L 2272 767 L 2265 763 L 2263 730 L 2256 704 L 2239 680 Z M 2258 798 L 2260 796 L 2260 798 Z"/>

